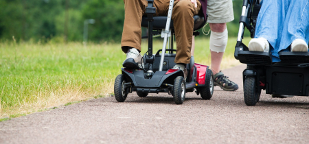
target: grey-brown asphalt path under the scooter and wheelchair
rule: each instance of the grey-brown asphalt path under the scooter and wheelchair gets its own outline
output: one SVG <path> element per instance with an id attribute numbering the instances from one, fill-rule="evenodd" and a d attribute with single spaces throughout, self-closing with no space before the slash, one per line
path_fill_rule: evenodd
<path id="1" fill-rule="evenodd" d="M 187 93 L 91 99 L 0 122 L 0 143 L 309 143 L 309 97 L 272 98 L 256 106 L 243 99 L 245 65 L 223 71 L 240 86 L 210 100 Z"/>

